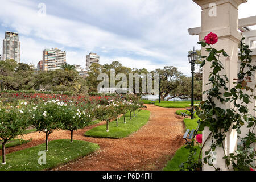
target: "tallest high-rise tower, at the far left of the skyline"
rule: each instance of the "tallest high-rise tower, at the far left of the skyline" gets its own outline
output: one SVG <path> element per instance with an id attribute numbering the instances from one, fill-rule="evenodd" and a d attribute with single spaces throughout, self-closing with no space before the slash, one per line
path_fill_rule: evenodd
<path id="1" fill-rule="evenodd" d="M 19 34 L 15 32 L 5 32 L 3 39 L 3 60 L 14 59 L 20 63 L 20 42 Z"/>

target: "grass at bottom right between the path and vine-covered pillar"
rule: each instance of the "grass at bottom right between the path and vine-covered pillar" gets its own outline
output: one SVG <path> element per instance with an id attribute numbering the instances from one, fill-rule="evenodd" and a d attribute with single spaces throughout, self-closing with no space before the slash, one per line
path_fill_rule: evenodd
<path id="1" fill-rule="evenodd" d="M 196 146 L 197 154 L 196 159 L 199 158 L 200 147 Z M 181 147 L 175 153 L 174 157 L 169 160 L 166 167 L 163 168 L 163 171 L 180 171 L 179 165 L 188 160 L 189 150 L 185 148 L 185 146 Z"/>

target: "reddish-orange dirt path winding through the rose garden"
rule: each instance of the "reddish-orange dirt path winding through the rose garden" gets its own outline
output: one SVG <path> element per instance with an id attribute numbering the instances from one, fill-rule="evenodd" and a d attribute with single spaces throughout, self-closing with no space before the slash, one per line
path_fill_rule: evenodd
<path id="1" fill-rule="evenodd" d="M 100 150 L 89 156 L 85 156 L 75 162 L 70 162 L 55 168 L 54 170 L 161 170 L 167 160 L 184 144 L 183 118 L 175 114 L 172 108 L 163 108 L 155 105 L 146 105 L 151 111 L 150 121 L 137 133 L 122 139 L 90 138 L 85 137 L 85 131 L 98 125 L 86 127 L 74 133 L 75 140 L 86 140 L 100 145 Z M 43 133 L 32 133 L 24 136 L 24 139 L 32 138 L 32 141 L 7 148 L 6 152 L 23 150 L 24 148 L 44 143 Z M 68 139 L 68 131 L 55 131 L 49 140 Z"/>

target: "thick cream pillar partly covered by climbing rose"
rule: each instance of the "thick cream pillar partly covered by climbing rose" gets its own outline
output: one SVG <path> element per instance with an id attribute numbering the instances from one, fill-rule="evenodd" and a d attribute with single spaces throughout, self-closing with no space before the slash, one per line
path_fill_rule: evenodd
<path id="1" fill-rule="evenodd" d="M 201 14 L 201 32 L 199 34 L 199 40 L 204 40 L 204 37 L 213 32 L 218 35 L 218 42 L 213 46 L 217 50 L 224 49 L 230 57 L 228 59 L 221 57 L 221 62 L 224 65 L 224 71 L 221 74 L 228 76 L 230 82 L 226 85 L 228 88 L 233 87 L 233 78 L 237 78 L 237 61 L 238 61 L 238 44 L 240 43 L 241 34 L 238 32 L 238 6 L 241 3 L 247 2 L 247 0 L 193 0 L 202 8 Z M 205 48 L 202 48 L 202 55 L 208 56 L 208 52 Z M 211 85 L 205 86 L 209 81 L 210 63 L 207 62 L 203 69 L 203 90 L 208 90 Z M 203 100 L 207 97 L 203 95 Z M 218 107 L 222 109 L 228 109 L 232 107 L 230 103 L 221 104 L 216 102 Z M 203 142 L 209 135 L 209 129 L 205 128 L 203 131 Z M 205 151 L 210 148 L 210 143 L 204 147 L 203 158 Z M 235 130 L 230 129 L 226 133 L 226 139 L 224 141 L 224 150 L 226 155 L 234 152 L 237 148 L 237 133 Z M 216 153 L 215 153 L 216 152 Z M 228 170 L 225 165 L 225 160 L 222 159 L 224 151 L 221 147 L 216 148 L 213 157 L 216 158 L 213 164 L 216 168 L 221 170 Z M 229 167 L 230 169 L 230 167 Z M 214 170 L 213 167 L 203 163 L 203 170 Z"/>

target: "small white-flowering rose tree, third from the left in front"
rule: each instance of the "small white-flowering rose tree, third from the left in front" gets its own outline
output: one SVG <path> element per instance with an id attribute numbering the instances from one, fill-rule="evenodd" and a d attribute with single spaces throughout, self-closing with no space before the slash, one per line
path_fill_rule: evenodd
<path id="1" fill-rule="evenodd" d="M 89 110 L 80 111 L 76 106 L 63 107 L 61 118 L 61 129 L 71 131 L 71 142 L 73 142 L 73 131 L 82 129 L 92 121 Z"/>

